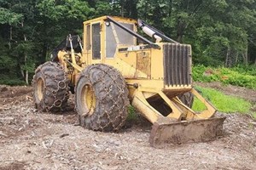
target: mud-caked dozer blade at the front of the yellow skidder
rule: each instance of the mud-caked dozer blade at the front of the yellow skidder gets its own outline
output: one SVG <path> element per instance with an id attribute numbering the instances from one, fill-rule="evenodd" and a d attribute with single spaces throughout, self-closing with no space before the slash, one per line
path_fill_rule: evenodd
<path id="1" fill-rule="evenodd" d="M 153 147 L 166 144 L 207 142 L 223 133 L 225 117 L 213 117 L 184 122 L 154 122 L 149 142 Z"/>

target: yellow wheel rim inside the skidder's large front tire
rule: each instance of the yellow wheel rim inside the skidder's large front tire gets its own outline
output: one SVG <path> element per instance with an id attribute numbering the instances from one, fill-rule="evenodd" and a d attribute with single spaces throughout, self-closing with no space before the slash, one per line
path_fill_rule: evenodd
<path id="1" fill-rule="evenodd" d="M 96 96 L 90 84 L 82 88 L 81 101 L 85 114 L 91 116 L 96 108 Z"/>

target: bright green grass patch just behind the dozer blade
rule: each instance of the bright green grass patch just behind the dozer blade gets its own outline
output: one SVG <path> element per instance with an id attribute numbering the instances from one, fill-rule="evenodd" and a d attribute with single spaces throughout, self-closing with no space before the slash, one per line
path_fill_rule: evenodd
<path id="1" fill-rule="evenodd" d="M 225 95 L 212 88 L 196 87 L 196 89 L 199 90 L 202 96 L 209 100 L 218 111 L 225 113 L 249 113 L 252 108 L 252 105 L 245 99 Z M 202 111 L 205 109 L 205 105 L 203 105 L 200 100 L 195 99 L 192 109 L 194 111 Z M 253 115 L 256 117 L 256 113 L 253 113 Z"/>

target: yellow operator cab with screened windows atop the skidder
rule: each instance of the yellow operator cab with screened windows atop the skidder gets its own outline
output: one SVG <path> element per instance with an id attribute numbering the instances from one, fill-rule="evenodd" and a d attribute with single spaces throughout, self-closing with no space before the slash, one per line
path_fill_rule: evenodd
<path id="1" fill-rule="evenodd" d="M 136 32 L 136 20 L 113 17 L 126 29 Z M 104 30 L 104 31 L 103 31 Z M 111 59 L 119 47 L 137 45 L 137 37 L 108 20 L 107 16 L 84 22 L 84 54 L 91 59 Z"/>

